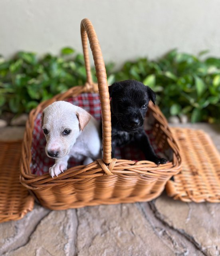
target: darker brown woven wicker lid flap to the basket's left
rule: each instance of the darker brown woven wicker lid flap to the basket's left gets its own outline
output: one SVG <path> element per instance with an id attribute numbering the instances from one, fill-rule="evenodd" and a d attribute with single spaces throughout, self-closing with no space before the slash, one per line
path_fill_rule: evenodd
<path id="1" fill-rule="evenodd" d="M 19 220 L 32 211 L 34 198 L 19 182 L 22 141 L 0 141 L 0 222 Z"/>

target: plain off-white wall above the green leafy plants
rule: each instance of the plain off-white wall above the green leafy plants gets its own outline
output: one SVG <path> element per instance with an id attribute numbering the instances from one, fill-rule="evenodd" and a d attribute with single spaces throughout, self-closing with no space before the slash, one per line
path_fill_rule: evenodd
<path id="1" fill-rule="evenodd" d="M 81 51 L 83 18 L 93 22 L 106 62 L 172 48 L 220 56 L 220 0 L 0 0 L 0 53 Z"/>

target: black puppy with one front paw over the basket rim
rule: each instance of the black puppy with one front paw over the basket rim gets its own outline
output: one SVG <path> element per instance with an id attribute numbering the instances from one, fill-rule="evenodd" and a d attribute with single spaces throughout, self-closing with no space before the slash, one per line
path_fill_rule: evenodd
<path id="1" fill-rule="evenodd" d="M 109 86 L 111 98 L 111 155 L 115 147 L 134 143 L 145 154 L 146 160 L 165 164 L 155 154 L 143 124 L 149 101 L 155 104 L 156 94 L 150 87 L 135 80 L 115 82 Z"/>

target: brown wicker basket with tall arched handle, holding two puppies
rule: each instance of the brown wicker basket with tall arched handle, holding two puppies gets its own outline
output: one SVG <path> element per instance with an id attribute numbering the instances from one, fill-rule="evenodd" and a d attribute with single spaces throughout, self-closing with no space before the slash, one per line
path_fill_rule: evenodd
<path id="1" fill-rule="evenodd" d="M 95 62 L 97 84 L 92 82 L 87 37 Z M 153 130 L 157 146 L 172 152 L 170 162 L 157 166 L 150 161 L 131 161 L 111 159 L 111 112 L 105 65 L 95 30 L 88 19 L 81 22 L 81 38 L 87 72 L 85 86 L 74 86 L 63 94 L 46 100 L 29 115 L 22 145 L 20 164 L 20 182 L 29 189 L 32 195 L 43 206 L 63 210 L 98 204 L 118 204 L 128 202 L 149 201 L 161 194 L 167 180 L 180 170 L 180 154 L 172 137 L 165 117 L 160 109 L 149 104 L 150 115 L 153 116 Z M 37 176 L 32 174 L 31 146 L 34 120 L 44 108 L 57 100 L 66 100 L 85 92 L 99 90 L 103 121 L 103 159 L 67 169 L 58 177 L 49 174 Z"/>

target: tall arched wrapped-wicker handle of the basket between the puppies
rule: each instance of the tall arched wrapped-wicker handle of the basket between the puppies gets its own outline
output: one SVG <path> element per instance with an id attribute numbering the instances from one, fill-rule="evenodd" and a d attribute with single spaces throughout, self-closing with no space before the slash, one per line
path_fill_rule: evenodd
<path id="1" fill-rule="evenodd" d="M 109 164 L 111 162 L 111 110 L 109 100 L 109 89 L 107 76 L 105 71 L 105 63 L 103 60 L 101 48 L 93 25 L 89 19 L 83 19 L 80 25 L 81 40 L 83 44 L 83 53 L 85 59 L 85 68 L 87 74 L 87 82 L 93 84 L 90 64 L 89 52 L 87 47 L 87 37 L 89 39 L 90 48 L 95 63 L 96 77 L 98 81 L 99 96 L 101 102 L 101 118 L 102 118 L 102 141 L 103 141 L 103 162 Z"/>

